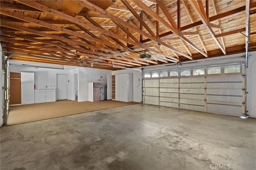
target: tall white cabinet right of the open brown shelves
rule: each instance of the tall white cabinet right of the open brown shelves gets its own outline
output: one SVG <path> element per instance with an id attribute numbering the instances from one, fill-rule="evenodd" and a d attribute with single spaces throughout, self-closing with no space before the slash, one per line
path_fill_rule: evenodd
<path id="1" fill-rule="evenodd" d="M 116 74 L 116 99 L 132 102 L 132 74 Z"/>

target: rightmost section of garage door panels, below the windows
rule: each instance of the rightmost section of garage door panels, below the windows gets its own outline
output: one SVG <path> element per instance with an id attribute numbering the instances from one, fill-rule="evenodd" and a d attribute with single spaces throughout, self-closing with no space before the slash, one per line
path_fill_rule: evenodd
<path id="1" fill-rule="evenodd" d="M 242 75 L 208 76 L 206 111 L 241 116 L 244 94 L 243 80 Z"/>

